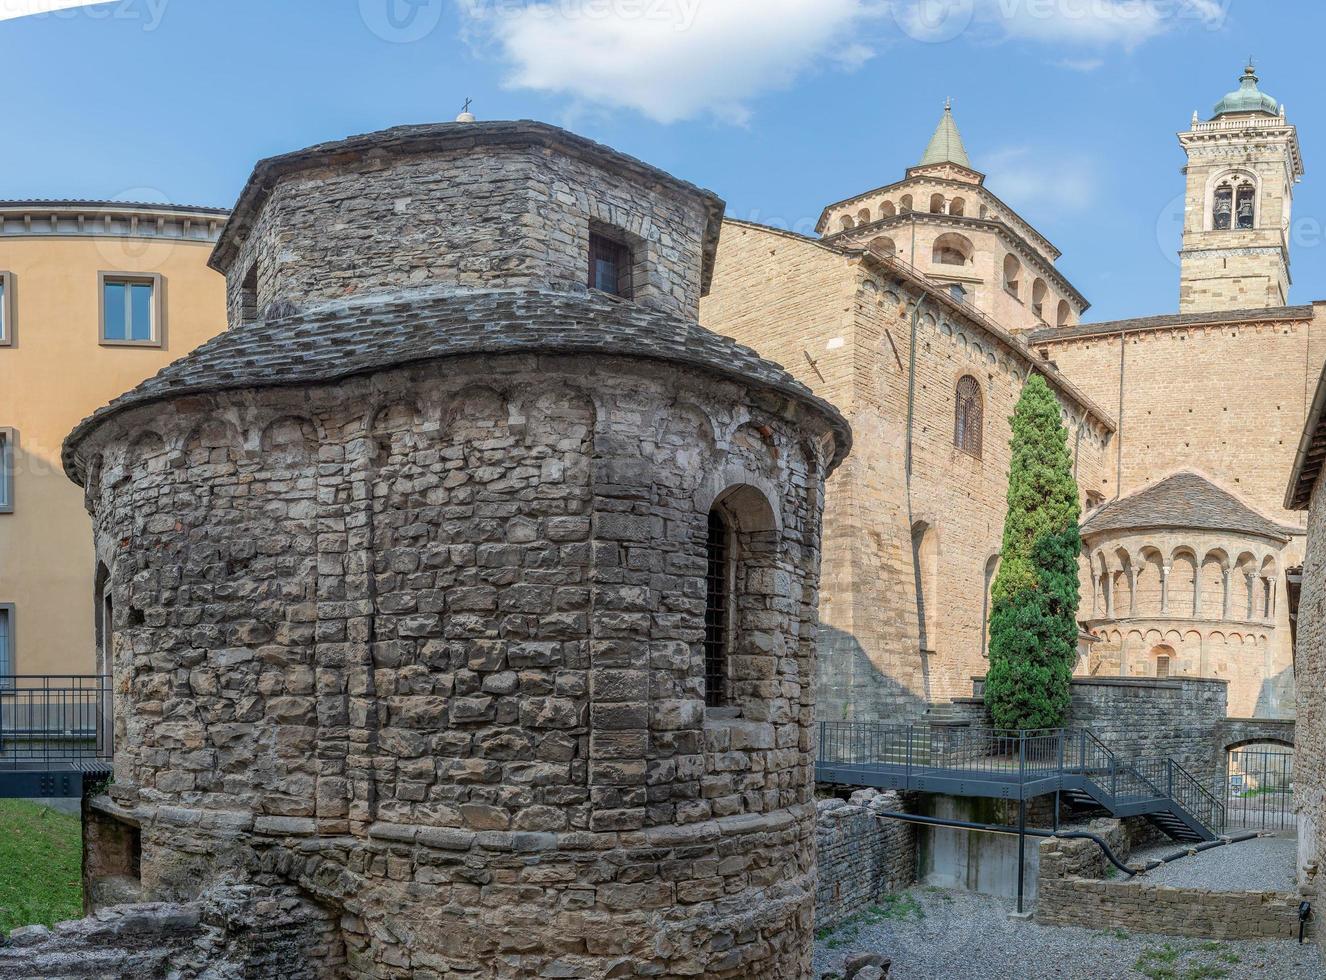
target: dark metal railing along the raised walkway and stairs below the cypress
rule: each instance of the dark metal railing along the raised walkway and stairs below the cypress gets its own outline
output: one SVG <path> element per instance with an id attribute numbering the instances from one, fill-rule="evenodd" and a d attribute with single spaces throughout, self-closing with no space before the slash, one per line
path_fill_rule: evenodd
<path id="1" fill-rule="evenodd" d="M 1009 784 L 1020 796 L 1090 782 L 1110 809 L 1156 812 L 1174 804 L 1212 833 L 1225 806 L 1174 759 L 1120 759 L 1086 728 L 1002 731 L 927 724 L 821 721 L 819 766 L 888 772 L 907 785 L 939 774 Z"/>

